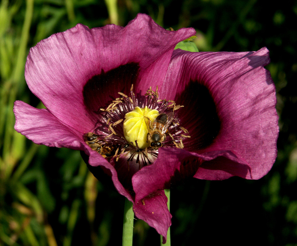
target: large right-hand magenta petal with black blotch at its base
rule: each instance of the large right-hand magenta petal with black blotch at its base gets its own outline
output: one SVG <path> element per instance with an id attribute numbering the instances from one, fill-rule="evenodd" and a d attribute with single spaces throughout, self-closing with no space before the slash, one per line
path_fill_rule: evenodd
<path id="1" fill-rule="evenodd" d="M 180 124 L 191 135 L 184 142 L 186 149 L 203 155 L 213 151 L 231 151 L 249 164 L 251 173 L 244 177 L 247 179 L 261 178 L 271 169 L 277 154 L 278 116 L 275 87 L 269 72 L 263 67 L 268 63 L 266 48 L 257 52 L 192 53 L 176 50 L 173 53 L 166 80 L 178 85 L 171 96 L 176 93 L 176 102 L 185 104 L 178 114 Z M 205 89 L 212 99 L 211 108 L 209 98 L 205 100 L 206 104 L 197 99 L 199 90 Z M 191 113 L 182 117 L 184 111 Z M 200 112 L 203 115 L 198 117 Z M 209 124 L 215 127 L 208 127 Z M 205 162 L 195 177 L 207 179 L 204 170 L 213 170 L 212 165 L 222 164 L 222 159 Z M 227 176 L 222 172 L 222 176 L 210 175 L 209 179 Z"/>

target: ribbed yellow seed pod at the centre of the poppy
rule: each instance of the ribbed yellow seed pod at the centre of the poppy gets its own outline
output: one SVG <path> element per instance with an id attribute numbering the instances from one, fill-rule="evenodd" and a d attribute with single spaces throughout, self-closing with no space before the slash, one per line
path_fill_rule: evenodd
<path id="1" fill-rule="evenodd" d="M 132 142 L 136 147 L 135 140 L 137 140 L 140 149 L 149 147 L 149 143 L 146 142 L 149 133 L 149 125 L 147 126 L 146 124 L 149 124 L 149 122 L 143 115 L 153 121 L 159 115 L 159 111 L 150 109 L 147 106 L 145 108 L 135 107 L 135 109 L 125 115 L 123 124 L 124 136 L 127 142 Z"/>

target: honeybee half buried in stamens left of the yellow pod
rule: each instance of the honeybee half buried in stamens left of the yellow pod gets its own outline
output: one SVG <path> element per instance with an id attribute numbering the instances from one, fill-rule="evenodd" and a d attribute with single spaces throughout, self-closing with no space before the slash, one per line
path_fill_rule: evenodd
<path id="1" fill-rule="evenodd" d="M 99 135 L 93 132 L 88 132 L 85 135 L 83 135 L 83 140 L 86 142 L 87 145 L 90 146 L 92 150 L 97 151 L 104 158 L 112 157 L 116 152 L 116 146 L 105 146 L 104 144 L 102 144 L 102 140 L 98 137 Z"/>

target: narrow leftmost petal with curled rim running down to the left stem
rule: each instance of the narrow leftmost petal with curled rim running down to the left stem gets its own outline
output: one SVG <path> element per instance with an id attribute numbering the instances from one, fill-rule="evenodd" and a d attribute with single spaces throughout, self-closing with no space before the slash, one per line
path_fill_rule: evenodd
<path id="1" fill-rule="evenodd" d="M 133 202 L 131 194 L 121 185 L 113 166 L 96 151 L 91 151 L 82 140 L 82 134 L 63 125 L 47 109 L 37 109 L 22 101 L 15 101 L 15 130 L 26 135 L 37 144 L 50 147 L 66 147 L 84 150 L 89 156 L 89 164 L 110 170 L 113 183 L 119 193 Z M 81 136 L 80 136 L 81 135 Z"/>

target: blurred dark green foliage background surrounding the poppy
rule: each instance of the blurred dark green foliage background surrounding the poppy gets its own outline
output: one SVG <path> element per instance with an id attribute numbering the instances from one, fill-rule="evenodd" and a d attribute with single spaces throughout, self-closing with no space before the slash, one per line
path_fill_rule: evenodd
<path id="1" fill-rule="evenodd" d="M 29 48 L 77 23 L 126 25 L 138 12 L 164 28 L 194 27 L 199 51 L 270 50 L 280 116 L 278 158 L 260 180 L 185 180 L 171 189 L 172 245 L 297 245 L 297 1 L 1 0 L 0 245 L 120 245 L 124 197 L 96 180 L 78 151 L 37 146 L 13 129 Z M 135 221 L 134 245 L 157 232 Z"/>

